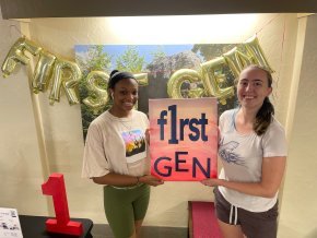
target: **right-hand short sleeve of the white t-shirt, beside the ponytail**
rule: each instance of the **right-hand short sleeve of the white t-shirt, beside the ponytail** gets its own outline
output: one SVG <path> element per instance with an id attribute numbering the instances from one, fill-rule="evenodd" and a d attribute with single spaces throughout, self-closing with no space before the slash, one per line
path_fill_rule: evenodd
<path id="1" fill-rule="evenodd" d="M 263 157 L 286 156 L 286 136 L 283 127 L 273 121 L 262 138 Z"/>

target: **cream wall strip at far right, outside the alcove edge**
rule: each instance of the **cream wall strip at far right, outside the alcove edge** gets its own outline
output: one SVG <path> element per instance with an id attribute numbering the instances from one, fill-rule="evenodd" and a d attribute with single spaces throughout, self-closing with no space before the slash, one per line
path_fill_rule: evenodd
<path id="1" fill-rule="evenodd" d="M 290 138 L 287 170 L 284 183 L 279 237 L 317 237 L 317 15 L 302 19 L 305 29 L 298 44 L 304 44 L 296 58 L 300 66 L 298 85 L 293 102 L 294 119 Z M 300 47 L 301 48 L 301 47 Z M 298 66 L 296 66 L 298 67 Z M 292 99 L 290 99 L 292 100 Z"/>

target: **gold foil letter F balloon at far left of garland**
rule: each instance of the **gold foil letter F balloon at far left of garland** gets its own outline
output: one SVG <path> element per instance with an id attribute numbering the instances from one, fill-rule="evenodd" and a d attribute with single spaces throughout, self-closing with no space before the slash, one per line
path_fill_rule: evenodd
<path id="1" fill-rule="evenodd" d="M 28 51 L 33 56 L 36 56 L 40 52 L 40 50 L 42 48 L 39 46 L 26 39 L 25 37 L 19 38 L 11 47 L 3 61 L 1 68 L 3 76 L 9 76 L 15 69 L 16 63 L 28 64 L 30 58 L 25 56 L 25 51 Z"/>

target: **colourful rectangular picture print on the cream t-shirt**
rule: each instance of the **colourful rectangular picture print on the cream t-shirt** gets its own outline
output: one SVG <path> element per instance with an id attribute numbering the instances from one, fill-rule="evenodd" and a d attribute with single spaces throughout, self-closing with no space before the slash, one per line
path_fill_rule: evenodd
<path id="1" fill-rule="evenodd" d="M 124 131 L 121 135 L 126 144 L 127 163 L 134 163 L 146 157 L 145 138 L 141 130 Z"/>

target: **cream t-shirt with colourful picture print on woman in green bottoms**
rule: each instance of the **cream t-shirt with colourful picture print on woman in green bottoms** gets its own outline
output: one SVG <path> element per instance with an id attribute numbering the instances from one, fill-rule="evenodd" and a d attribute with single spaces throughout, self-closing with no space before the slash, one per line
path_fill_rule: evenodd
<path id="1" fill-rule="evenodd" d="M 109 172 L 143 176 L 150 172 L 145 141 L 149 120 L 132 110 L 128 118 L 117 118 L 108 110 L 90 124 L 83 156 L 82 177 L 102 177 Z"/>

